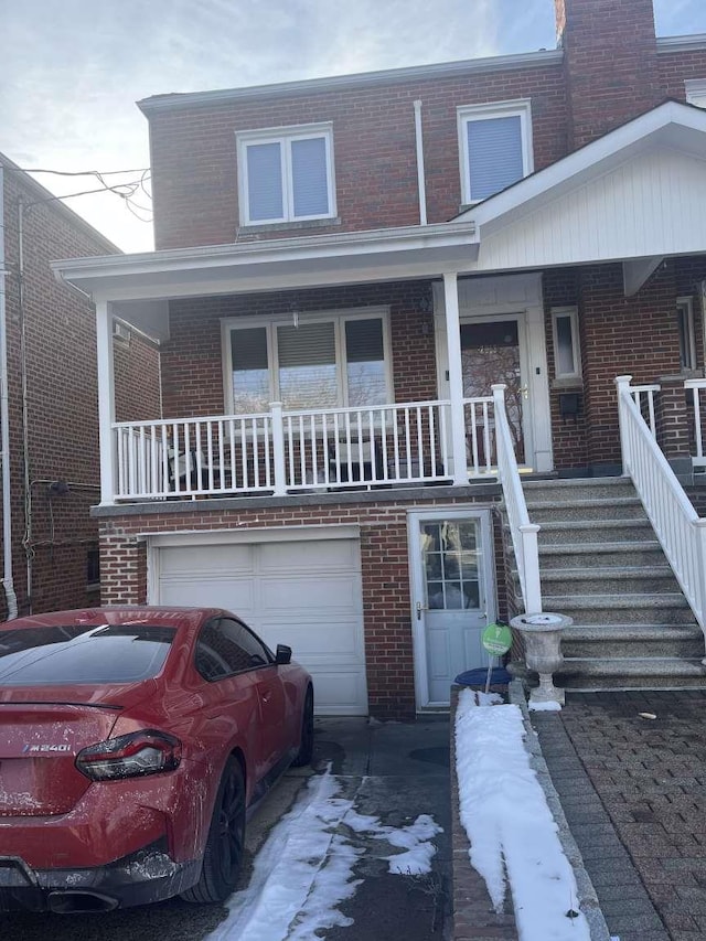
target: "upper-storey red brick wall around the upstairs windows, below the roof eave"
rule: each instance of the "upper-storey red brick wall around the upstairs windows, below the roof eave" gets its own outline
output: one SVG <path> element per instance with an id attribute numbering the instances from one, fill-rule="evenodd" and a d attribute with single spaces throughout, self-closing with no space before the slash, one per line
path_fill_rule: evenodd
<path id="1" fill-rule="evenodd" d="M 239 225 L 236 131 L 317 121 L 333 122 L 341 222 L 330 231 L 418 223 L 416 99 L 422 101 L 428 217 L 445 222 L 461 201 L 457 107 L 515 98 L 532 99 L 535 168 L 546 167 L 566 152 L 558 64 L 153 113 L 156 245 L 233 242 Z M 259 237 L 292 234 L 301 233 L 270 231 Z M 249 237 L 257 236 L 239 234 L 239 240 Z"/>

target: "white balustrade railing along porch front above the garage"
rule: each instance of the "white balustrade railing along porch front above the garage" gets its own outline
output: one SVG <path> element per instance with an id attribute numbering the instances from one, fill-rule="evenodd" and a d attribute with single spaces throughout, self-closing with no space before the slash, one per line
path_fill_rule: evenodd
<path id="1" fill-rule="evenodd" d="M 470 477 L 493 473 L 490 397 L 466 399 Z M 335 490 L 449 480 L 449 402 L 124 421 L 116 500 Z"/>

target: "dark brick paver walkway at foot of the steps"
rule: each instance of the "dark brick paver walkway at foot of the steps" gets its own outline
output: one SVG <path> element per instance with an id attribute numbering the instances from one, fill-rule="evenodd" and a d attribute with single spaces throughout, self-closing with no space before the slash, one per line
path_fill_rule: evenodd
<path id="1" fill-rule="evenodd" d="M 533 724 L 611 932 L 705 939 L 706 692 L 569 694 Z"/>

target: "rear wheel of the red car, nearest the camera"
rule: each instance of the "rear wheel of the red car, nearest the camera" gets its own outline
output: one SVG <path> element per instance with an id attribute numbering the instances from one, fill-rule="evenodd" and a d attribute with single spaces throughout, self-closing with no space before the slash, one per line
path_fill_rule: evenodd
<path id="1" fill-rule="evenodd" d="M 183 892 L 185 901 L 224 901 L 235 889 L 245 844 L 245 781 L 235 758 L 226 761 L 213 808 L 201 878 Z"/>

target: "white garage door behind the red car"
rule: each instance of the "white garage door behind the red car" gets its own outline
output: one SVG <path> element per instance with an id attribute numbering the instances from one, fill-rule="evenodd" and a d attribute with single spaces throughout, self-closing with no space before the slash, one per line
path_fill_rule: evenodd
<path id="1" fill-rule="evenodd" d="M 291 646 L 319 714 L 367 714 L 357 539 L 162 546 L 153 559 L 154 603 L 237 613 L 272 650 Z"/>

